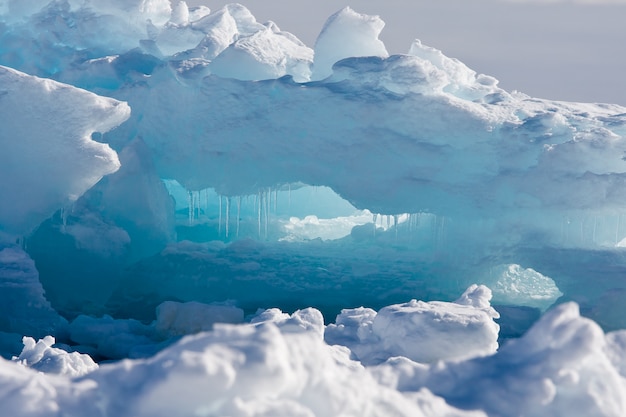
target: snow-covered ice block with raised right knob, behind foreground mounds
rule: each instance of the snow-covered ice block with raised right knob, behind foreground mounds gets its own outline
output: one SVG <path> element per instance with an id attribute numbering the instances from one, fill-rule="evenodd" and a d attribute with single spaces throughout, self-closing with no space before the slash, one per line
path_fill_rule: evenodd
<path id="1" fill-rule="evenodd" d="M 365 364 L 394 356 L 416 362 L 463 360 L 498 348 L 498 313 L 491 290 L 473 285 L 454 303 L 411 300 L 382 308 L 343 310 L 326 328 L 325 340 L 350 348 Z"/>

